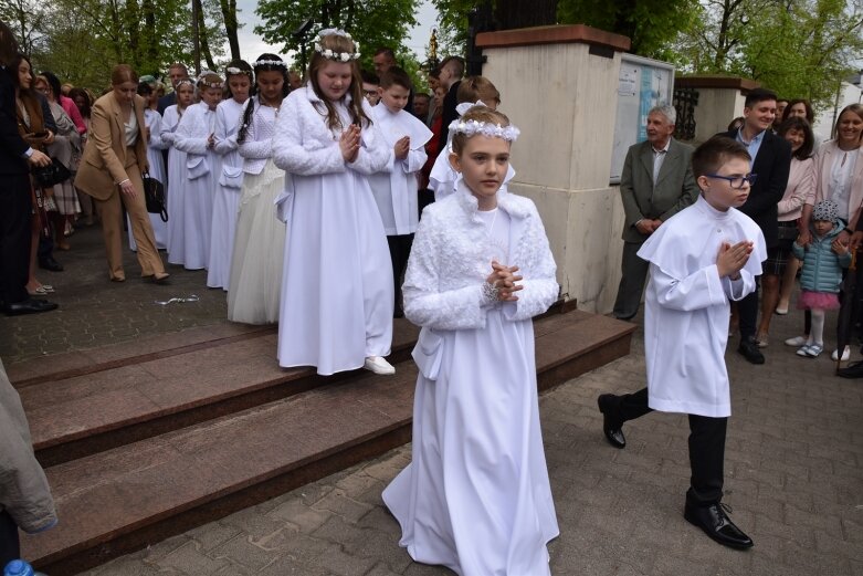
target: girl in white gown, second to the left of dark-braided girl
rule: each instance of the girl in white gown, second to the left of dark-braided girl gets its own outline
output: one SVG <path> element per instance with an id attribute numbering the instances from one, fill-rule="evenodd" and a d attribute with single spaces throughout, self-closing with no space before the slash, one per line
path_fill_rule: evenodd
<path id="1" fill-rule="evenodd" d="M 206 74 L 198 83 L 201 102 L 189 106 L 177 127 L 173 146 L 186 153 L 182 182 L 183 261 L 187 270 L 206 269 L 210 263 L 213 195 L 221 157 L 215 146 L 215 107 L 222 101 L 222 78 Z"/>

